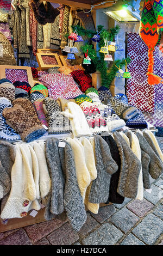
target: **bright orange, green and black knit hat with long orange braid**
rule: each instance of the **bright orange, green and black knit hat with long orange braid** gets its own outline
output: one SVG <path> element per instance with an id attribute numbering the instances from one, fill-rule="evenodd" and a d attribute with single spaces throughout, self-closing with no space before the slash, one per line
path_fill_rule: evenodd
<path id="1" fill-rule="evenodd" d="M 162 0 L 145 0 L 140 23 L 140 36 L 148 46 L 148 83 L 159 84 L 161 77 L 153 74 L 153 51 L 161 38 L 163 31 L 163 2 Z"/>

